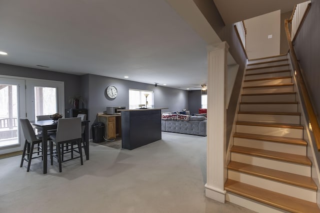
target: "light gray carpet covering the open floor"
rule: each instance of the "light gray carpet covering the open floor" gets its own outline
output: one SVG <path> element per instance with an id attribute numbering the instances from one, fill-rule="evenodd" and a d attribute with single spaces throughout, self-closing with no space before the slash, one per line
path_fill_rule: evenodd
<path id="1" fill-rule="evenodd" d="M 244 213 L 204 196 L 206 137 L 162 132 L 134 149 L 90 145 L 90 160 L 48 165 L 0 160 L 0 213 Z"/>

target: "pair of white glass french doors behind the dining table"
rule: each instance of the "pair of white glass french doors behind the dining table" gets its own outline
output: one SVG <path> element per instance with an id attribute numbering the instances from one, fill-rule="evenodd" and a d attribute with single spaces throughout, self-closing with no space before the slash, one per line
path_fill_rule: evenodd
<path id="1" fill-rule="evenodd" d="M 19 118 L 64 114 L 64 82 L 0 76 L 0 154 L 24 145 Z"/>

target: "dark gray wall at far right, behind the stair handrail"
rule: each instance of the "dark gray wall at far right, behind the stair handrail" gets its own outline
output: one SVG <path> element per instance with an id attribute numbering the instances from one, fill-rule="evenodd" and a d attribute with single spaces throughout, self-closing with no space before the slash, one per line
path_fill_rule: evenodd
<path id="1" fill-rule="evenodd" d="M 311 0 L 310 10 L 294 41 L 294 50 L 315 114 L 320 113 L 320 1 Z"/>

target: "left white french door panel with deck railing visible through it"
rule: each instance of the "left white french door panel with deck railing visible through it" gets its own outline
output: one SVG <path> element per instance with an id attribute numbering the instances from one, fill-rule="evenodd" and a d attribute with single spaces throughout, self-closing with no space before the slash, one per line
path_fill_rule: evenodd
<path id="1" fill-rule="evenodd" d="M 25 117 L 25 81 L 0 77 L 0 154 L 22 150 L 19 118 Z"/>

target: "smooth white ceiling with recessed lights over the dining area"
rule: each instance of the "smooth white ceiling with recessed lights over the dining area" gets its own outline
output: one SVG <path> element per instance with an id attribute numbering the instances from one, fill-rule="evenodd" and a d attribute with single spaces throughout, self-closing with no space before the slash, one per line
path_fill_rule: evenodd
<path id="1" fill-rule="evenodd" d="M 226 21 L 233 7 L 214 2 Z M 180 89 L 206 83 L 220 41 L 192 0 L 0 0 L 0 30 L 0 63 Z"/>

